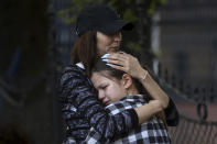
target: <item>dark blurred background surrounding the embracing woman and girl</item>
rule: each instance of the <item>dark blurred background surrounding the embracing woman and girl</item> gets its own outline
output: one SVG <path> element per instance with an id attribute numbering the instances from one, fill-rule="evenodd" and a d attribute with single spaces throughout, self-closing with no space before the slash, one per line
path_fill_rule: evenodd
<path id="1" fill-rule="evenodd" d="M 77 13 L 97 1 L 134 23 L 122 48 L 175 101 L 181 123 L 169 129 L 173 143 L 216 144 L 216 0 L 2 0 L 0 144 L 61 144 L 58 79 L 70 62 Z"/>

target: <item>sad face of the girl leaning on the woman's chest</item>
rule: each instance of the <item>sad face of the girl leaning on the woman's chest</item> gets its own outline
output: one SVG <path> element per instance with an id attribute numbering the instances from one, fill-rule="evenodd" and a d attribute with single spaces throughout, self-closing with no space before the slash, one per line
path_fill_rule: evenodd
<path id="1" fill-rule="evenodd" d="M 118 82 L 118 80 L 109 79 L 99 73 L 94 73 L 91 76 L 91 81 L 98 90 L 99 100 L 101 100 L 106 106 L 127 96 L 127 91 L 121 80 Z"/>

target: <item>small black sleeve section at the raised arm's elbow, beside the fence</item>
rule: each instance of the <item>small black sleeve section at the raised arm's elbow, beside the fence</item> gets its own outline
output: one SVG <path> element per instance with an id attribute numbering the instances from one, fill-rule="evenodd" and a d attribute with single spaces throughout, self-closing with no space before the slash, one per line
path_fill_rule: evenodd
<path id="1" fill-rule="evenodd" d="M 176 126 L 180 122 L 180 115 L 175 107 L 175 103 L 171 98 L 169 100 L 169 106 L 164 110 L 164 112 L 165 112 L 166 124 L 169 126 Z"/>

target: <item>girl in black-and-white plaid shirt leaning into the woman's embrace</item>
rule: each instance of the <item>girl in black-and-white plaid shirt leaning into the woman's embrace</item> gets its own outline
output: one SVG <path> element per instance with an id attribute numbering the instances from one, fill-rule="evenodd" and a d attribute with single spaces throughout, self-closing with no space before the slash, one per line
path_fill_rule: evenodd
<path id="1" fill-rule="evenodd" d="M 93 69 L 91 81 L 98 90 L 98 98 L 113 115 L 147 103 L 147 110 L 143 111 L 147 122 L 115 139 L 112 143 L 171 143 L 166 124 L 158 115 L 164 109 L 164 99 L 152 98 L 153 100 L 149 100 L 143 86 L 137 79 L 129 74 L 111 68 L 101 60 Z M 86 143 L 106 143 L 100 137 L 101 135 L 91 128 Z"/>

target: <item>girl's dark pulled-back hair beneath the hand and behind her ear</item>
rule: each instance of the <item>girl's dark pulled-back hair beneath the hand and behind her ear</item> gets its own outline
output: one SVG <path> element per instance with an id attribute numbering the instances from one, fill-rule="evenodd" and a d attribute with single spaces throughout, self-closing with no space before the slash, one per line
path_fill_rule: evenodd
<path id="1" fill-rule="evenodd" d="M 102 73 L 102 71 L 106 71 L 106 73 Z M 124 71 L 121 71 L 121 70 L 115 69 L 110 66 L 107 66 L 106 63 L 102 62 L 101 59 L 97 60 L 97 63 L 95 64 L 95 67 L 91 70 L 91 74 L 93 73 L 100 73 L 105 77 L 109 76 L 109 77 L 113 77 L 118 80 L 121 80 L 122 75 L 124 74 Z M 138 79 L 132 78 L 132 81 L 133 81 L 135 88 L 138 89 L 139 93 L 147 95 L 147 90 L 143 88 L 142 84 Z"/>

